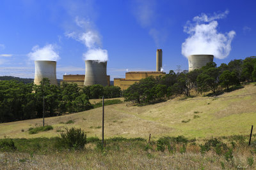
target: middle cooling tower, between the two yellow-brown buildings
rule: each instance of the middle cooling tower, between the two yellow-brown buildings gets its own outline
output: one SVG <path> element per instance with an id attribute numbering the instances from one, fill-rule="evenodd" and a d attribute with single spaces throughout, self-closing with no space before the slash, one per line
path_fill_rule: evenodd
<path id="1" fill-rule="evenodd" d="M 100 60 L 85 61 L 85 78 L 84 85 L 108 85 L 107 79 L 107 62 Z"/>

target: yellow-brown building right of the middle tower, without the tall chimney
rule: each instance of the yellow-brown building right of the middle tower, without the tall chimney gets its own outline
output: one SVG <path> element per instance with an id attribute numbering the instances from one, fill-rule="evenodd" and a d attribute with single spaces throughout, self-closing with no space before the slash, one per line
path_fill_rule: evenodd
<path id="1" fill-rule="evenodd" d="M 163 76 L 166 73 L 161 71 L 131 71 L 125 73 L 125 78 L 114 78 L 114 85 L 121 88 L 121 90 L 126 90 L 135 82 L 140 81 L 143 78 L 149 76 Z"/>

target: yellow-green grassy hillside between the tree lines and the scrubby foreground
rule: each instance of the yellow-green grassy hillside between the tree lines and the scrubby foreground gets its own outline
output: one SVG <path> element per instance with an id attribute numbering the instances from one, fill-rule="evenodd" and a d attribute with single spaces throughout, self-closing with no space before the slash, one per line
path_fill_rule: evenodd
<path id="1" fill-rule="evenodd" d="M 179 136 L 205 138 L 249 134 L 256 122 L 256 85 L 222 94 L 218 97 L 173 99 L 149 106 L 129 106 L 128 103 L 105 107 L 105 136 L 148 138 Z M 230 97 L 232 96 L 232 97 Z M 72 120 L 74 123 L 72 123 Z M 71 124 L 66 124 L 67 122 Z M 0 124 L 0 138 L 36 138 L 60 135 L 65 127 L 83 129 L 88 137 L 101 136 L 102 108 L 61 117 L 45 118 L 53 130 L 28 134 L 30 127 L 42 125 L 42 118 Z M 22 132 L 24 131 L 24 132 Z"/>

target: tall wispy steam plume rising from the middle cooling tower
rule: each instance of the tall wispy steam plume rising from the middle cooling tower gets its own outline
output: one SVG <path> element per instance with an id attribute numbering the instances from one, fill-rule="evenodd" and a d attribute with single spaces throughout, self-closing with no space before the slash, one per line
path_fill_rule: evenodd
<path id="1" fill-rule="evenodd" d="M 81 20 L 76 17 L 76 25 L 83 29 L 83 32 L 69 32 L 66 33 L 66 36 L 76 39 L 88 48 L 88 51 L 83 53 L 84 60 L 107 61 L 108 50 L 100 48 L 101 38 L 99 32 L 92 28 L 92 23 L 89 20 Z"/>

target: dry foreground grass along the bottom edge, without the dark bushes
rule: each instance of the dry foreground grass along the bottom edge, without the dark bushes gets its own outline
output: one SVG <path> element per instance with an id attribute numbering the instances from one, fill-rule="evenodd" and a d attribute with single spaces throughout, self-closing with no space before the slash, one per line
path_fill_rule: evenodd
<path id="1" fill-rule="evenodd" d="M 255 136 L 253 136 L 255 138 Z M 177 138 L 173 138 L 177 139 Z M 1 139 L 3 140 L 3 139 Z M 0 140 L 0 141 L 1 141 Z M 218 138 L 232 149 L 232 155 L 217 154 L 212 148 L 200 152 L 200 143 L 170 143 L 159 151 L 159 141 L 141 138 L 111 138 L 106 148 L 97 145 L 99 139 L 88 138 L 83 150 L 59 150 L 54 146 L 57 138 L 13 139 L 16 151 L 0 152 L 1 169 L 255 169 L 255 146 L 248 146 L 248 137 Z M 209 141 L 209 140 L 208 140 Z M 199 142 L 199 143 L 198 143 Z M 233 144 L 231 144 L 233 143 Z M 175 147 L 174 147 L 175 146 Z M 182 150 L 182 148 L 186 148 Z"/>

